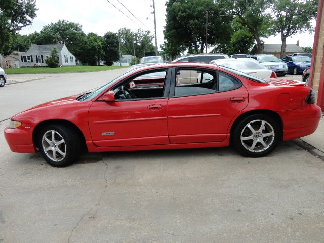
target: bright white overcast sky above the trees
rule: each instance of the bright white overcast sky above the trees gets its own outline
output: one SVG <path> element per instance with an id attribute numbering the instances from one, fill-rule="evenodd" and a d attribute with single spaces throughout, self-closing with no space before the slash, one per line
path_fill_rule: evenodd
<path id="1" fill-rule="evenodd" d="M 166 0 L 155 0 L 158 47 L 164 42 L 163 29 L 166 25 L 165 3 Z M 129 18 L 113 7 L 112 4 Z M 86 34 L 94 32 L 102 36 L 108 31 L 117 33 L 120 28 L 124 27 L 134 32 L 139 28 L 142 30 L 150 30 L 154 34 L 154 16 L 151 14 L 153 12 L 151 5 L 153 5 L 153 0 L 37 0 L 37 17 L 33 20 L 31 26 L 23 28 L 20 33 L 30 34 L 34 31 L 39 32 L 43 26 L 55 23 L 59 19 L 64 19 L 81 24 Z M 313 25 L 315 27 L 315 22 L 313 22 Z M 287 43 L 296 43 L 297 40 L 300 41 L 299 46 L 301 47 L 312 47 L 314 33 L 298 33 L 288 38 Z M 280 35 L 270 36 L 268 39 L 263 39 L 263 41 L 266 44 L 281 43 Z M 155 45 L 154 41 L 153 44 Z"/>

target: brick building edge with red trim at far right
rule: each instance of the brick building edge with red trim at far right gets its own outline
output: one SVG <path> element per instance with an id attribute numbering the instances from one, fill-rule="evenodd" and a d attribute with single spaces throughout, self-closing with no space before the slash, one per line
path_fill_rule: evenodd
<path id="1" fill-rule="evenodd" d="M 317 105 L 324 111 L 324 0 L 318 1 L 317 20 L 315 27 L 315 38 L 313 45 L 312 66 L 309 82 L 317 94 Z"/>

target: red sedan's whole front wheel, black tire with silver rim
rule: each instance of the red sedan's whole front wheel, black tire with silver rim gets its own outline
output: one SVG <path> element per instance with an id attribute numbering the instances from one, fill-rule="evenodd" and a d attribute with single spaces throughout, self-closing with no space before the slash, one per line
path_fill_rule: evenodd
<path id="1" fill-rule="evenodd" d="M 77 160 L 82 146 L 77 132 L 68 125 L 44 127 L 37 136 L 37 144 L 44 159 L 54 167 L 72 164 Z"/>

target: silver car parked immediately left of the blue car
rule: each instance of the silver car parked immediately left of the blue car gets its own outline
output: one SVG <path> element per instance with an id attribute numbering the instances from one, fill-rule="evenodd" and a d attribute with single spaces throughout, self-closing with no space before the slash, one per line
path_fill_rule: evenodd
<path id="1" fill-rule="evenodd" d="M 287 64 L 273 55 L 258 54 L 249 55 L 249 57 L 260 62 L 265 68 L 274 71 L 277 74 L 277 76 L 285 76 L 288 71 Z"/>

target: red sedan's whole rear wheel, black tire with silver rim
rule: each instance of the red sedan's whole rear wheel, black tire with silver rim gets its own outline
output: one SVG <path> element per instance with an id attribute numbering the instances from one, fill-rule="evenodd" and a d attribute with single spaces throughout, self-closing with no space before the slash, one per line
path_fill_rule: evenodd
<path id="1" fill-rule="evenodd" d="M 263 127 L 261 127 L 262 121 L 264 121 Z M 252 127 L 255 133 L 247 127 L 248 125 Z M 268 155 L 281 140 L 281 130 L 278 121 L 266 114 L 254 114 L 242 118 L 234 126 L 233 134 L 231 134 L 232 145 L 240 154 L 247 157 Z M 269 135 L 272 132 L 273 135 Z M 263 143 L 261 143 L 261 140 Z"/>

